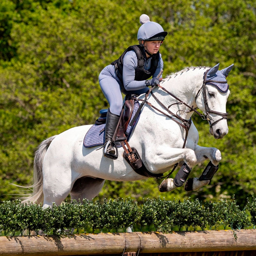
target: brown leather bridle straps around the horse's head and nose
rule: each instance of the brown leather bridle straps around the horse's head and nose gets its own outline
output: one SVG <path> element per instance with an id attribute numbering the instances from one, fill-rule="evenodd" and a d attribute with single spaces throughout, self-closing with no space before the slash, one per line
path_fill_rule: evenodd
<path id="1" fill-rule="evenodd" d="M 205 87 L 205 85 L 208 84 L 208 83 L 210 83 L 210 82 L 212 82 L 212 83 L 219 83 L 219 84 L 226 84 L 227 81 L 226 81 L 226 80 L 225 80 L 225 81 L 206 80 L 206 76 L 207 76 L 207 73 L 208 73 L 209 70 L 210 70 L 210 69 L 208 69 L 208 70 L 204 73 L 204 82 L 203 82 L 202 87 L 201 87 L 201 88 L 199 89 L 199 91 L 196 93 L 195 100 L 196 100 L 196 98 L 197 98 L 199 92 L 200 92 L 201 90 L 203 90 L 202 92 L 203 92 L 204 107 L 205 107 L 205 112 L 206 112 L 206 113 L 205 113 L 204 115 L 201 115 L 201 117 L 202 117 L 202 119 L 204 119 L 204 120 L 206 119 L 206 120 L 208 121 L 208 123 L 209 123 L 209 125 L 210 125 L 210 128 L 211 128 L 214 124 L 218 123 L 220 120 L 222 120 L 222 119 L 228 119 L 228 113 L 222 113 L 222 112 L 217 112 L 217 111 L 210 110 L 210 108 L 209 108 L 209 106 L 208 106 L 208 101 L 207 101 L 207 96 L 206 96 L 206 87 Z M 221 117 L 220 119 L 218 119 L 217 121 L 215 121 L 215 122 L 212 123 L 209 114 L 216 114 L 216 115 L 222 116 L 222 117 Z"/>

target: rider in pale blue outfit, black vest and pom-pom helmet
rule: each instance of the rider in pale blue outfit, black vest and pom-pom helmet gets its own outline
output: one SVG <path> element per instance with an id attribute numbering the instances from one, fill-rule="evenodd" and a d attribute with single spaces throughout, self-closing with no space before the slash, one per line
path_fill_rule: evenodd
<path id="1" fill-rule="evenodd" d="M 164 67 L 159 48 L 167 32 L 158 23 L 150 21 L 146 14 L 140 16 L 140 23 L 142 25 L 137 36 L 139 45 L 128 47 L 118 60 L 105 67 L 99 75 L 100 88 L 109 103 L 104 156 L 116 153 L 112 138 L 123 106 L 122 93 L 146 93 L 148 86 L 159 84 L 162 77 L 156 77 Z"/>

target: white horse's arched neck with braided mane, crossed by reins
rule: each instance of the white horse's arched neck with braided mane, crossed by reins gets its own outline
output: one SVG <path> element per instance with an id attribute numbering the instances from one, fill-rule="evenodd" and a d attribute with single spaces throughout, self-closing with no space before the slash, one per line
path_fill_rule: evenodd
<path id="1" fill-rule="evenodd" d="M 199 69 L 191 69 L 187 70 L 186 72 L 180 71 L 166 77 L 164 82 L 161 83 L 161 86 L 175 95 L 181 102 L 186 103 L 190 107 L 193 106 L 193 108 L 196 108 L 195 96 L 202 86 L 203 73 L 204 71 L 202 72 L 202 70 Z M 194 113 L 193 111 L 191 112 L 185 104 L 175 104 L 178 103 L 179 100 L 175 99 L 160 88 L 154 88 L 154 94 L 164 106 L 167 108 L 171 106 L 169 110 L 172 113 L 177 113 L 183 119 L 188 120 Z M 157 104 L 158 107 L 163 109 L 153 97 L 150 97 L 149 102 L 154 105 Z"/>

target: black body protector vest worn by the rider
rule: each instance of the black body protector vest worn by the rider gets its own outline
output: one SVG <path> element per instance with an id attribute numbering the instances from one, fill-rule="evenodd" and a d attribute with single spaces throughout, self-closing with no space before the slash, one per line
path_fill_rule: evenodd
<path id="1" fill-rule="evenodd" d="M 135 81 L 143 81 L 151 76 L 153 76 L 156 72 L 156 68 L 158 66 L 158 61 L 160 54 L 157 52 L 156 54 L 152 55 L 151 59 L 151 66 L 149 70 L 144 69 L 144 63 L 145 63 L 145 51 L 144 47 L 141 45 L 132 45 L 129 46 L 123 54 L 119 57 L 119 59 L 113 61 L 111 65 L 115 66 L 116 75 L 119 78 L 120 82 L 123 83 L 123 59 L 126 52 L 134 51 L 136 53 L 137 59 L 138 59 L 138 65 L 135 69 Z"/>

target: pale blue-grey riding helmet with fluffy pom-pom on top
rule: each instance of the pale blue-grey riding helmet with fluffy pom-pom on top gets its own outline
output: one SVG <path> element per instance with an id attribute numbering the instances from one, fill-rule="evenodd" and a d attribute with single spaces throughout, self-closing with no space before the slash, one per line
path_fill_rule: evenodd
<path id="1" fill-rule="evenodd" d="M 164 31 L 161 25 L 150 21 L 147 14 L 140 16 L 140 24 L 137 39 L 139 41 L 163 41 L 167 32 Z"/>

